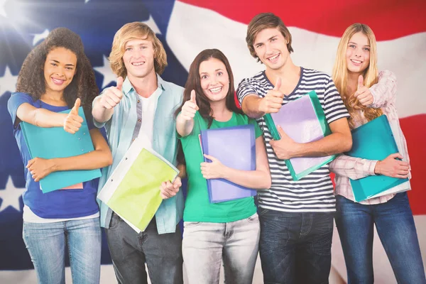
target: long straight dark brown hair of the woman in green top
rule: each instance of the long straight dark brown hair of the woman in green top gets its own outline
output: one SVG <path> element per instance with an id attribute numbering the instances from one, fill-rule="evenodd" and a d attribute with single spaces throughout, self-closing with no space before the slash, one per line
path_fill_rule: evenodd
<path id="1" fill-rule="evenodd" d="M 234 96 L 235 96 L 235 88 L 234 88 L 234 75 L 232 75 L 231 65 L 229 65 L 228 58 L 222 53 L 222 51 L 218 49 L 206 49 L 202 50 L 201 53 L 197 55 L 197 57 L 192 61 L 190 70 L 188 72 L 188 79 L 185 84 L 185 91 L 183 92 L 183 100 L 182 105 L 175 112 L 175 116 L 178 116 L 180 111 L 182 111 L 183 104 L 191 99 L 191 91 L 194 89 L 196 96 L 195 99 L 197 101 L 197 106 L 199 107 L 198 112 L 200 115 L 207 120 L 208 127 L 212 125 L 213 117 L 212 117 L 212 109 L 210 107 L 210 102 L 207 96 L 204 94 L 201 83 L 200 83 L 200 65 L 202 62 L 207 61 L 211 58 L 216 58 L 224 63 L 226 67 L 226 72 L 229 75 L 229 90 L 228 94 L 226 94 L 226 109 L 230 111 L 234 111 L 238 114 L 243 114 L 241 109 L 236 107 Z"/>

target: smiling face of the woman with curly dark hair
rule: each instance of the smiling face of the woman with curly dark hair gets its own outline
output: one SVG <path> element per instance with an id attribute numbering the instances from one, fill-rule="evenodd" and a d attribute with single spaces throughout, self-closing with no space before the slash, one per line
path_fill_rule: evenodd
<path id="1" fill-rule="evenodd" d="M 77 67 L 77 55 L 66 48 L 53 48 L 43 67 L 45 92 L 64 92 L 72 82 Z"/>

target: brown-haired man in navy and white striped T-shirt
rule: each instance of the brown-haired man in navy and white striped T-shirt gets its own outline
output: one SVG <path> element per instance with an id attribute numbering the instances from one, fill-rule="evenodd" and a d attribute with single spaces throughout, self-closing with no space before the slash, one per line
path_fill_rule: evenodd
<path id="1" fill-rule="evenodd" d="M 255 16 L 246 42 L 266 70 L 241 81 L 237 96 L 243 111 L 257 119 L 264 133 L 272 186 L 258 192 L 261 219 L 259 244 L 264 283 L 328 283 L 335 199 L 329 167 L 323 165 L 294 181 L 284 160 L 320 157 L 349 151 L 349 117 L 329 75 L 294 65 L 291 35 L 272 13 Z M 315 90 L 332 134 L 310 143 L 296 143 L 280 127 L 273 141 L 263 119 Z M 302 131 L 302 130 L 301 130 Z"/>

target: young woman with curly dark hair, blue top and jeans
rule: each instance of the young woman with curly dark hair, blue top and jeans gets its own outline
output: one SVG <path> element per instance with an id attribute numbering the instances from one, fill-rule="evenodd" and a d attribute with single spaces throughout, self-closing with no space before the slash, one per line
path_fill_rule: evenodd
<path id="1" fill-rule="evenodd" d="M 13 133 L 21 151 L 26 178 L 23 193 L 23 240 L 39 283 L 65 283 L 65 254 L 73 283 L 99 283 L 101 229 L 96 201 L 97 180 L 70 189 L 43 193 L 39 180 L 60 170 L 92 170 L 112 162 L 107 141 L 92 122 L 92 100 L 98 94 L 92 66 L 80 36 L 67 28 L 51 31 L 23 62 L 16 91 L 8 102 Z M 94 151 L 70 158 L 33 158 L 21 121 L 75 133 L 82 125 L 82 105 Z M 72 109 L 70 114 L 60 111 Z M 65 251 L 67 246 L 67 251 Z"/>

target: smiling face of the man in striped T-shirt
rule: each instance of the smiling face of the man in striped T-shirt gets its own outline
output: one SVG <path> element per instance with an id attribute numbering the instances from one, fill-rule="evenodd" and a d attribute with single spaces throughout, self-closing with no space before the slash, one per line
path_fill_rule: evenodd
<path id="1" fill-rule="evenodd" d="M 265 28 L 253 41 L 256 55 L 267 68 L 280 70 L 290 55 L 287 40 L 278 28 Z"/>

